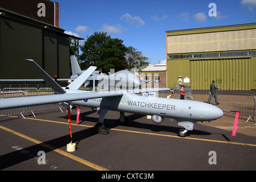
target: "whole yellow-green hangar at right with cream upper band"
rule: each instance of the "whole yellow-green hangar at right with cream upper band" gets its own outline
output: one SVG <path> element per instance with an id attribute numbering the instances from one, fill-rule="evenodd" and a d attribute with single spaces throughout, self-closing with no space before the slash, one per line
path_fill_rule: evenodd
<path id="1" fill-rule="evenodd" d="M 166 82 L 193 90 L 256 89 L 256 23 L 166 31 Z M 187 78 L 184 80 L 184 78 Z"/>

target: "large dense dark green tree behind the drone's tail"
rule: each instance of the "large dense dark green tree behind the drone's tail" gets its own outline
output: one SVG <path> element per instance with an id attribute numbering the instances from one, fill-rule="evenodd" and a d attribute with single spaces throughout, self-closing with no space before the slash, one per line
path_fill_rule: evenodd
<path id="1" fill-rule="evenodd" d="M 86 42 L 80 46 L 83 52 L 80 55 L 82 69 L 87 69 L 90 65 L 101 68 L 103 72 L 109 72 L 111 68 L 120 71 L 126 68 L 125 52 L 123 40 L 112 39 L 105 32 L 95 32 Z"/>

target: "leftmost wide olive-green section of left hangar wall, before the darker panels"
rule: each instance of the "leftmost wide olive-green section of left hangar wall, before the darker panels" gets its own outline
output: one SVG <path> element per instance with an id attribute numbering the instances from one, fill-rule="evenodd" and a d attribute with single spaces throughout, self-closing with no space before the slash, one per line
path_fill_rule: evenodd
<path id="1" fill-rule="evenodd" d="M 1 78 L 38 78 L 24 59 L 42 66 L 42 32 L 17 20 L 0 18 Z"/>

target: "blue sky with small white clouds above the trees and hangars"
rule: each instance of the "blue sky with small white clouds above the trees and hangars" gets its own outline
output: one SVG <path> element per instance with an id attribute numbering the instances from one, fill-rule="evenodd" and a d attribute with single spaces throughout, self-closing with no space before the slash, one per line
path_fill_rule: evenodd
<path id="1" fill-rule="evenodd" d="M 149 58 L 166 59 L 165 31 L 255 23 L 256 0 L 59 0 L 59 27 L 87 39 L 104 31 Z M 216 4 L 217 16 L 209 16 Z M 213 13 L 213 11 L 211 11 Z M 80 45 L 83 42 L 80 42 Z M 80 52 L 81 53 L 81 52 Z"/>

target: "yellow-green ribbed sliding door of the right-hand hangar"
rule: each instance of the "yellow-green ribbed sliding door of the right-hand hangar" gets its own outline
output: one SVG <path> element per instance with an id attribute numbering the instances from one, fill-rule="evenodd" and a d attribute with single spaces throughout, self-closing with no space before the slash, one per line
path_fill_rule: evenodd
<path id="1" fill-rule="evenodd" d="M 212 80 L 221 90 L 250 90 L 250 57 L 190 60 L 190 84 L 194 90 L 209 90 Z"/>

